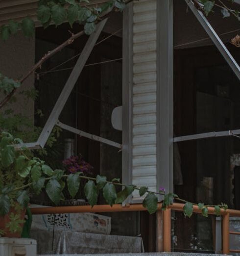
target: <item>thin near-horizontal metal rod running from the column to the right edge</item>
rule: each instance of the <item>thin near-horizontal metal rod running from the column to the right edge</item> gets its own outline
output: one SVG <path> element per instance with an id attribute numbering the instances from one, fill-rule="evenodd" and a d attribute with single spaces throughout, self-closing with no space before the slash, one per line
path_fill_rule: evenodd
<path id="1" fill-rule="evenodd" d="M 179 137 L 173 138 L 173 142 L 197 140 L 197 139 L 212 138 L 212 137 L 233 136 L 236 134 L 240 134 L 240 129 L 211 131 L 211 132 L 198 133 L 198 134 L 192 134 L 192 135 L 186 135 L 186 136 L 179 136 Z"/>

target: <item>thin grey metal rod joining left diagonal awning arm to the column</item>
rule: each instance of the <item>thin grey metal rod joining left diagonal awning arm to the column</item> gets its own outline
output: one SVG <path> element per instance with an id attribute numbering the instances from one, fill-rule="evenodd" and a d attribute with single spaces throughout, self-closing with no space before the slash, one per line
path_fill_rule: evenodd
<path id="1" fill-rule="evenodd" d="M 107 144 L 107 145 L 110 145 L 110 146 L 113 146 L 113 147 L 116 147 L 118 149 L 121 149 L 122 148 L 122 145 L 117 143 L 117 142 L 114 142 L 114 141 L 111 141 L 111 140 L 108 140 L 108 139 L 104 139 L 102 137 L 99 137 L 99 136 L 96 136 L 96 135 L 93 135 L 93 134 L 90 134 L 88 132 L 85 132 L 85 131 L 82 131 L 82 130 L 78 130 L 76 128 L 73 128 L 71 126 L 68 126 L 68 125 L 65 125 L 61 122 L 57 122 L 56 124 L 57 126 L 65 129 L 65 130 L 68 130 L 68 131 L 71 131 L 75 134 L 78 134 L 80 136 L 83 136 L 83 137 L 86 137 L 88 139 L 91 139 L 91 140 L 95 140 L 95 141 L 99 141 L 101 143 L 104 143 L 104 144 Z"/>

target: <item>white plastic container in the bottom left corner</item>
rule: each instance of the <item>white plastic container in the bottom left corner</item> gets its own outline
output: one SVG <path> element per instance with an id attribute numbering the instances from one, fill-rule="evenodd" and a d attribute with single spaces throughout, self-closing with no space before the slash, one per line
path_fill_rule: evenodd
<path id="1" fill-rule="evenodd" d="M 0 237 L 0 256 L 37 256 L 37 242 L 28 238 Z"/>

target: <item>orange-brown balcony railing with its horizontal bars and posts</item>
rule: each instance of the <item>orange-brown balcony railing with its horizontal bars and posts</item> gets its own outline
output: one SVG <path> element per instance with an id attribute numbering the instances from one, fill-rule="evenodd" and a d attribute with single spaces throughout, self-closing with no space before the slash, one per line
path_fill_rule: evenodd
<path id="1" fill-rule="evenodd" d="M 158 204 L 158 225 L 161 227 L 162 235 L 157 235 L 157 251 L 171 252 L 171 210 L 182 211 L 184 204 L 174 203 L 169 205 L 164 211 L 161 210 L 162 204 Z M 79 206 L 57 206 L 57 207 L 43 207 L 43 208 L 31 208 L 32 214 L 57 214 L 57 213 L 80 213 L 80 212 L 123 212 L 123 211 L 146 211 L 146 208 L 142 204 L 132 205 L 79 205 Z M 193 212 L 201 214 L 201 210 L 197 205 L 193 206 Z M 208 207 L 208 214 L 216 215 L 214 207 Z M 220 215 L 222 216 L 222 253 L 240 253 L 240 250 L 233 250 L 229 248 L 229 235 L 240 235 L 240 232 L 229 230 L 229 220 L 231 217 L 240 217 L 240 210 L 221 209 Z M 161 249 L 160 249 L 161 248 Z"/>

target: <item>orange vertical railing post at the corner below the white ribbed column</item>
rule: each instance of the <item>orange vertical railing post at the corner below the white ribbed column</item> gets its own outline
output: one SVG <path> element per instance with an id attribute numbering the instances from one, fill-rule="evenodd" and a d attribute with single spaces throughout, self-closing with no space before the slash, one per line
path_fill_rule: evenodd
<path id="1" fill-rule="evenodd" d="M 163 211 L 163 250 L 171 252 L 171 209 Z"/>

